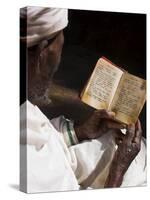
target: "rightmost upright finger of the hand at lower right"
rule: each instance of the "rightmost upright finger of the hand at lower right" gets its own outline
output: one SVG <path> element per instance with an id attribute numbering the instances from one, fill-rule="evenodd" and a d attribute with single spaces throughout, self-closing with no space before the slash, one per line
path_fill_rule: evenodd
<path id="1" fill-rule="evenodd" d="M 135 124 L 135 137 L 132 142 L 140 144 L 141 139 L 142 139 L 142 128 L 141 128 L 140 120 L 138 119 L 138 121 Z"/>

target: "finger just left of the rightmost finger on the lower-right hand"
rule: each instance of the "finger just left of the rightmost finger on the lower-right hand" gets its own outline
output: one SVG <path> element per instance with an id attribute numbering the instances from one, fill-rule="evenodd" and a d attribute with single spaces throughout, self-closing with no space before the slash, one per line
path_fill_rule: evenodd
<path id="1" fill-rule="evenodd" d="M 134 137 L 135 137 L 135 125 L 134 124 L 129 124 L 127 126 L 127 134 L 126 134 L 125 141 L 128 144 L 131 144 L 133 139 L 134 139 Z"/>

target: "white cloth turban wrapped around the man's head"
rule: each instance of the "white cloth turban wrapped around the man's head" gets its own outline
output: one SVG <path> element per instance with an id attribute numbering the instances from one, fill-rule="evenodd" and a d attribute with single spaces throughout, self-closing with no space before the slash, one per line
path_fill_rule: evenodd
<path id="1" fill-rule="evenodd" d="M 68 10 L 61 8 L 26 7 L 20 9 L 21 19 L 27 18 L 27 35 L 21 36 L 27 46 L 42 39 L 51 39 L 68 24 Z"/>

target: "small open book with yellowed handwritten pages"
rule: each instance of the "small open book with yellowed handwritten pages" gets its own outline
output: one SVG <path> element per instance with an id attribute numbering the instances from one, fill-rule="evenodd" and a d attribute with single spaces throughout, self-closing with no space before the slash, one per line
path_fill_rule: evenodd
<path id="1" fill-rule="evenodd" d="M 135 123 L 146 99 L 146 81 L 129 74 L 102 57 L 81 94 L 81 100 L 96 108 L 115 112 L 116 120 Z"/>

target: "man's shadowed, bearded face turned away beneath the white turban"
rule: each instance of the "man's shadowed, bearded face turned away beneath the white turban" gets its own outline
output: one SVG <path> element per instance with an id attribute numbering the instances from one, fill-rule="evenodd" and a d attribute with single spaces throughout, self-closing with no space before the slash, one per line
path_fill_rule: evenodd
<path id="1" fill-rule="evenodd" d="M 49 83 L 58 69 L 64 43 L 63 31 L 51 40 L 28 48 L 28 98 L 36 105 L 49 103 Z"/>

